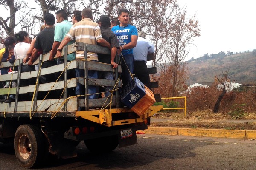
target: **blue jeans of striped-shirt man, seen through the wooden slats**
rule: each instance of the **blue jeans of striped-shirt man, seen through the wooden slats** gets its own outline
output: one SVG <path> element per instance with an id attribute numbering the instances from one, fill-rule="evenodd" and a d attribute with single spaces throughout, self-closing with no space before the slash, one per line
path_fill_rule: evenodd
<path id="1" fill-rule="evenodd" d="M 96 61 L 96 60 L 92 60 Z M 96 61 L 97 62 L 97 61 Z M 76 68 L 76 77 L 84 77 L 84 70 Z M 97 79 L 98 78 L 98 71 L 95 70 L 88 70 L 88 78 L 92 79 Z M 97 87 L 94 85 L 89 85 L 88 86 L 88 94 L 92 94 L 88 96 L 88 99 L 97 99 L 98 94 L 94 94 L 97 92 Z M 84 95 L 85 94 L 85 89 L 84 85 L 78 83 L 76 86 L 76 95 Z M 80 99 L 84 99 L 84 97 L 81 97 Z"/>

